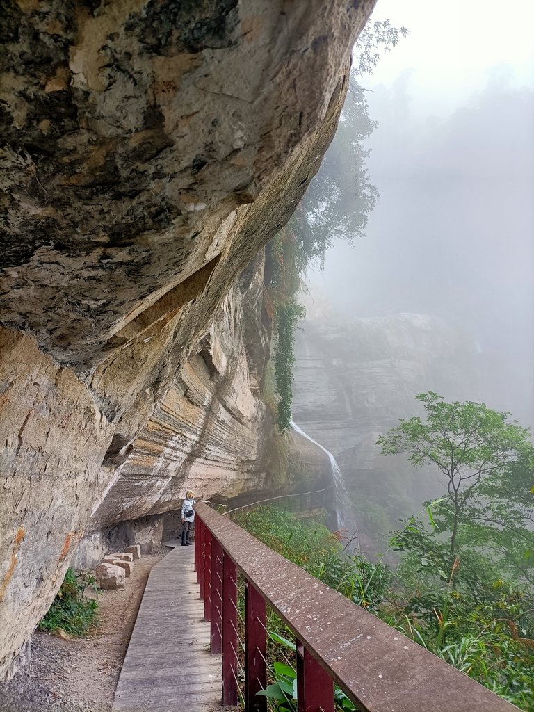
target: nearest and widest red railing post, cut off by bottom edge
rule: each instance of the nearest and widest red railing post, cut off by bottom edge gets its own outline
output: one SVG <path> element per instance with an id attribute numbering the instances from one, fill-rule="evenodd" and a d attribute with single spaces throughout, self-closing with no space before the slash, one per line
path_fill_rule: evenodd
<path id="1" fill-rule="evenodd" d="M 305 647 L 297 641 L 298 712 L 334 712 L 334 683 Z"/>

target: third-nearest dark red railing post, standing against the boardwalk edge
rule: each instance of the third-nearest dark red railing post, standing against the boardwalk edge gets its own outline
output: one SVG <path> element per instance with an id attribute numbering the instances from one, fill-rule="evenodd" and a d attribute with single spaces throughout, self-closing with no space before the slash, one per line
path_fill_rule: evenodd
<path id="1" fill-rule="evenodd" d="M 223 704 L 237 704 L 237 567 L 223 552 Z"/>

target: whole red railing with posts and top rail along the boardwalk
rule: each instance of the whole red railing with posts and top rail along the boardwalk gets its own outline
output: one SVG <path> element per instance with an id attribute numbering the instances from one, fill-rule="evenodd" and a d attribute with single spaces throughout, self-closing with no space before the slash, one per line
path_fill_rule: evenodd
<path id="1" fill-rule="evenodd" d="M 200 503 L 195 570 L 222 651 L 222 701 L 238 701 L 237 576 L 245 581 L 246 712 L 266 712 L 266 606 L 295 635 L 298 712 L 334 712 L 334 682 L 364 712 L 511 712 L 513 705 Z"/>

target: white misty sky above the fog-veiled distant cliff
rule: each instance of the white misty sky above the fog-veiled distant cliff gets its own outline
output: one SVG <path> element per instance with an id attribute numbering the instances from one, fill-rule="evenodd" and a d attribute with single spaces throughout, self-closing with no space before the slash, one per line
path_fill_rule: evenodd
<path id="1" fill-rule="evenodd" d="M 361 80 L 379 202 L 367 238 L 311 280 L 349 315 L 464 329 L 488 356 L 488 405 L 534 425 L 534 3 L 379 0 L 386 18 L 409 36 Z"/>

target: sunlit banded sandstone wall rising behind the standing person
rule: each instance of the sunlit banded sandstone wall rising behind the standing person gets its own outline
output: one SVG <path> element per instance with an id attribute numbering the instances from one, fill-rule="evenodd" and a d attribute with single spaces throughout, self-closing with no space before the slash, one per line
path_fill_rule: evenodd
<path id="1" fill-rule="evenodd" d="M 273 417 L 256 375 L 263 372 L 270 335 L 262 256 L 231 289 L 199 352 L 135 440 L 93 515 L 93 528 L 176 509 L 189 489 L 209 498 L 261 488 Z"/>

